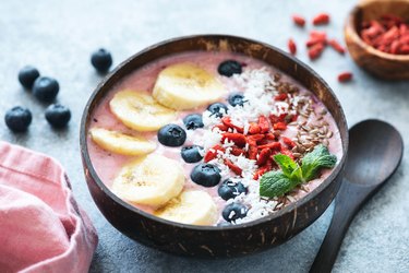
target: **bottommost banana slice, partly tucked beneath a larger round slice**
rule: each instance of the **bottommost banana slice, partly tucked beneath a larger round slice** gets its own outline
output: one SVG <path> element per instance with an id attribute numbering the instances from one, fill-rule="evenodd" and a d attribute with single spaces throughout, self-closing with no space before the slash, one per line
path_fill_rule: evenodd
<path id="1" fill-rule="evenodd" d="M 155 211 L 158 217 L 190 225 L 213 225 L 217 221 L 217 207 L 204 191 L 183 191 L 164 207 Z"/>

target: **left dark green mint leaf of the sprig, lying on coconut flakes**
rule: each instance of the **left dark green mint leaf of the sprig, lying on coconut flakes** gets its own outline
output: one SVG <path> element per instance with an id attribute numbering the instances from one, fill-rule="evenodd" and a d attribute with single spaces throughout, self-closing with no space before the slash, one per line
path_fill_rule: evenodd
<path id="1" fill-rule="evenodd" d="M 266 198 L 280 197 L 298 185 L 288 178 L 281 170 L 272 170 L 264 174 L 260 180 L 260 195 Z"/>

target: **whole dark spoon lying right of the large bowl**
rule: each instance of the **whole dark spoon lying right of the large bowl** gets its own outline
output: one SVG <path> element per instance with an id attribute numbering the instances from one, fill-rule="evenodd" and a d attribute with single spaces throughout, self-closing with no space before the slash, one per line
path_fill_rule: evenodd
<path id="1" fill-rule="evenodd" d="M 345 234 L 357 212 L 399 166 L 404 142 L 399 132 L 380 120 L 365 120 L 349 130 L 345 177 L 335 198 L 328 232 L 310 272 L 330 272 Z"/>

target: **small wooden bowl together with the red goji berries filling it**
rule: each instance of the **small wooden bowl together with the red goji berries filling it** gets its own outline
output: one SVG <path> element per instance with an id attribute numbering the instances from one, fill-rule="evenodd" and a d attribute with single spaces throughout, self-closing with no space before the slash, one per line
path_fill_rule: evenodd
<path id="1" fill-rule="evenodd" d="M 400 43 L 407 32 L 401 29 L 404 35 L 395 35 L 393 32 L 396 28 L 392 25 L 384 25 L 381 31 L 375 29 L 385 20 L 393 22 L 392 19 L 399 19 L 399 25 L 404 25 L 401 28 L 406 27 L 409 23 L 409 0 L 372 0 L 359 3 L 350 12 L 345 25 L 346 44 L 356 63 L 368 72 L 385 80 L 408 80 L 409 52 L 406 52 L 406 38 Z M 370 28 L 382 34 L 376 41 L 368 38 Z M 395 48 L 396 46 L 399 48 Z"/>

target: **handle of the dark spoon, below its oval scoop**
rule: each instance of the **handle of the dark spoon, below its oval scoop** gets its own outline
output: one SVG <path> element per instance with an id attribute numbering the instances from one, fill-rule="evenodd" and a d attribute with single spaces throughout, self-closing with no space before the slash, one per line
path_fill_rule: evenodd
<path id="1" fill-rule="evenodd" d="M 333 219 L 310 272 L 326 273 L 332 271 L 353 216 L 372 191 L 372 187 L 363 187 L 344 179 L 335 199 Z"/>

